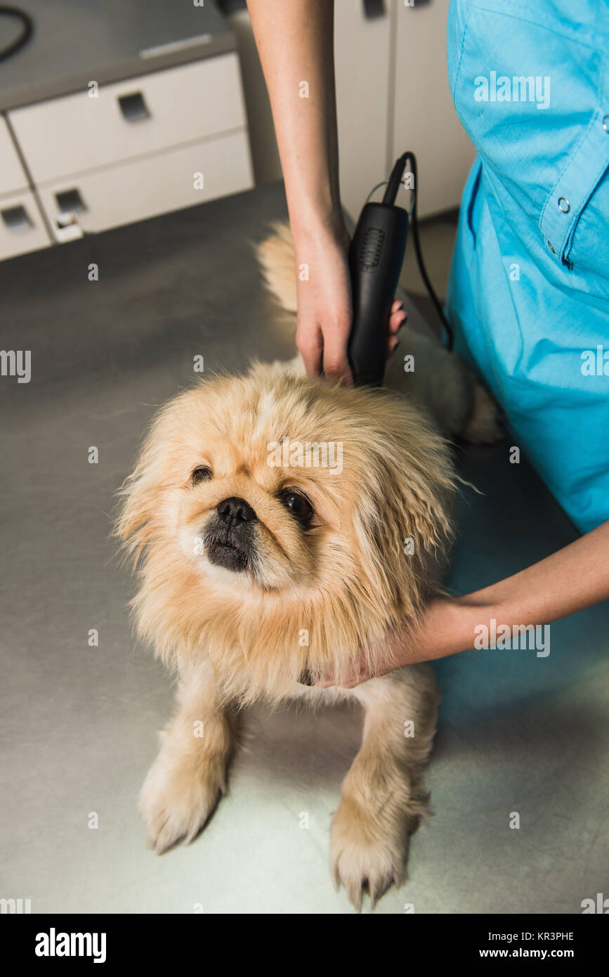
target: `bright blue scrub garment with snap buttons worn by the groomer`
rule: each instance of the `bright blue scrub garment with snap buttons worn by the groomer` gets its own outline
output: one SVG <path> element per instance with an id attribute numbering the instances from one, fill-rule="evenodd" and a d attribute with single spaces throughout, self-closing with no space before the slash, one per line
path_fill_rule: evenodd
<path id="1" fill-rule="evenodd" d="M 452 0 L 448 73 L 478 153 L 446 305 L 457 348 L 589 531 L 609 519 L 609 4 Z"/>

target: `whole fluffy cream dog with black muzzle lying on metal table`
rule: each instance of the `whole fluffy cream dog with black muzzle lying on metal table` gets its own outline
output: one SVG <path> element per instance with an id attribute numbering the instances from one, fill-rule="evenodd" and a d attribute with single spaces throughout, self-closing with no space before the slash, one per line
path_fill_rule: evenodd
<path id="1" fill-rule="evenodd" d="M 284 229 L 260 258 L 293 310 Z M 493 440 L 494 407 L 460 361 L 409 342 L 415 394 L 440 429 Z M 324 464 L 339 446 L 341 464 Z M 332 871 L 358 909 L 366 888 L 374 904 L 401 881 L 425 812 L 439 701 L 431 668 L 348 691 L 299 679 L 341 675 L 362 648 L 374 665 L 387 633 L 422 613 L 446 567 L 455 490 L 449 447 L 424 410 L 386 391 L 309 380 L 298 362 L 204 381 L 161 409 L 118 525 L 141 558 L 139 633 L 178 676 L 176 713 L 142 787 L 151 847 L 162 852 L 205 825 L 244 704 L 352 698 L 365 710 L 363 742 L 332 822 Z"/>

